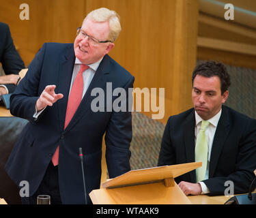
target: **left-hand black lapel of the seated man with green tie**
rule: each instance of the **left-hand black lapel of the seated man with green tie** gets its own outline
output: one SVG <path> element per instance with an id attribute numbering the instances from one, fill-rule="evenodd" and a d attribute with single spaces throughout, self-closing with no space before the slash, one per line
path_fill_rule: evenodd
<path id="1" fill-rule="evenodd" d="M 188 163 L 195 162 L 195 110 L 188 115 L 184 123 L 184 144 L 186 150 L 186 160 Z M 195 170 L 189 173 L 192 182 L 195 181 Z"/>

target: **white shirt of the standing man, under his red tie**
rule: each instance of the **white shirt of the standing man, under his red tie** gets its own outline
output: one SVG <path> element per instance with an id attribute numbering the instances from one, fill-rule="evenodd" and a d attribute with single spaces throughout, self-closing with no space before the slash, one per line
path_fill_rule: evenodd
<path id="1" fill-rule="evenodd" d="M 85 69 L 85 71 L 83 72 L 83 97 L 85 96 L 85 93 L 89 87 L 89 84 L 91 84 L 91 80 L 94 78 L 94 74 L 95 74 L 96 70 L 98 69 L 102 59 L 100 59 L 96 63 L 89 64 L 88 68 Z M 71 78 L 71 83 L 70 83 L 70 91 L 71 91 L 74 79 L 76 78 L 76 75 L 79 73 L 81 64 L 82 64 L 81 61 L 79 61 L 79 59 L 76 58 L 76 60 L 74 61 L 74 68 L 73 68 L 72 78 Z M 68 96 L 69 95 L 70 95 L 70 92 L 69 92 Z M 83 97 L 82 97 L 82 99 L 83 99 Z M 44 111 L 44 109 L 42 109 L 38 112 L 35 108 L 35 114 L 33 114 L 33 119 L 35 119 L 35 120 L 38 119 L 38 116 Z"/>

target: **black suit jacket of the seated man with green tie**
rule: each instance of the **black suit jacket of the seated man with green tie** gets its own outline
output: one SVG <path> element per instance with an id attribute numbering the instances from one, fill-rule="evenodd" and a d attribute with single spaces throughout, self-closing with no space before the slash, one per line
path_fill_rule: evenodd
<path id="1" fill-rule="evenodd" d="M 255 178 L 256 121 L 223 106 L 212 144 L 209 179 L 203 181 L 212 195 L 223 195 L 225 181 L 233 181 L 235 193 L 248 191 Z M 195 110 L 171 116 L 165 127 L 158 166 L 195 161 Z M 195 170 L 175 178 L 195 183 Z M 227 184 L 226 184 L 227 185 Z"/>

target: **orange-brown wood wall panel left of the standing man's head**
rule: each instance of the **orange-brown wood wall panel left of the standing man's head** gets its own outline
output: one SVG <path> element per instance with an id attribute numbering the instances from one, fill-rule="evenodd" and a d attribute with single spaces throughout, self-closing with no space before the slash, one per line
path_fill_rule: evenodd
<path id="1" fill-rule="evenodd" d="M 29 20 L 20 20 L 21 3 L 24 1 L 2 3 L 0 20 L 10 26 L 25 65 L 29 65 L 44 42 L 73 42 L 76 28 L 85 16 L 85 1 L 82 0 L 27 0 Z"/>

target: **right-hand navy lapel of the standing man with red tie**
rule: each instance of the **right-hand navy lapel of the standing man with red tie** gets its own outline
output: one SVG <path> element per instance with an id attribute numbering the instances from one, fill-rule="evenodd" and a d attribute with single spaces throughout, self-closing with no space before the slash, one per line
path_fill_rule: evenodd
<path id="1" fill-rule="evenodd" d="M 91 90 L 94 88 L 101 88 L 104 90 L 104 87 L 106 87 L 106 74 L 109 74 L 109 70 L 110 67 L 108 55 L 105 55 L 97 71 L 95 72 L 94 78 L 89 84 L 89 87 L 81 101 L 81 104 L 79 105 L 79 108 L 77 108 L 72 120 L 66 127 L 65 131 L 71 129 L 78 121 L 82 119 L 82 117 L 87 113 L 87 110 L 91 108 L 91 101 L 94 99 L 94 96 L 91 96 Z"/>

